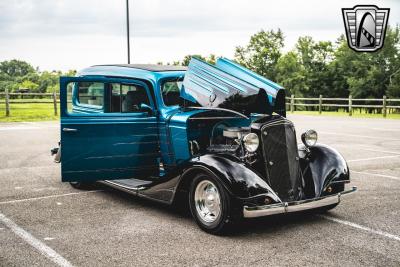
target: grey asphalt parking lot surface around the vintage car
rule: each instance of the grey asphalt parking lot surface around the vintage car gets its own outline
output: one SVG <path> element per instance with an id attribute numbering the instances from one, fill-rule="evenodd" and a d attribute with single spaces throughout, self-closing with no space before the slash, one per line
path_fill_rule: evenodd
<path id="1" fill-rule="evenodd" d="M 400 121 L 289 116 L 348 160 L 359 191 L 325 215 L 202 232 L 188 213 L 60 182 L 56 122 L 0 124 L 0 266 L 400 265 Z"/>

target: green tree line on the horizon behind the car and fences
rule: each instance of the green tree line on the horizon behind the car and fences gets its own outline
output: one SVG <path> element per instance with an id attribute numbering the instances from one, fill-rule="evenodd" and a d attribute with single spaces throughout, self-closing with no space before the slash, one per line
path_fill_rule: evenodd
<path id="1" fill-rule="evenodd" d="M 285 37 L 280 29 L 261 30 L 248 44 L 235 49 L 239 64 L 275 81 L 298 97 L 400 98 L 400 27 L 388 27 L 382 49 L 374 53 L 351 50 L 342 35 L 335 42 L 300 37 L 294 49 L 284 52 Z M 196 56 L 215 63 L 216 56 L 187 55 L 173 65 L 188 65 Z M 161 62 L 159 63 L 161 64 Z M 170 64 L 170 63 L 168 63 Z M 0 62 L 0 91 L 29 89 L 58 91 L 60 75 L 76 71 L 39 71 L 19 60 Z"/>

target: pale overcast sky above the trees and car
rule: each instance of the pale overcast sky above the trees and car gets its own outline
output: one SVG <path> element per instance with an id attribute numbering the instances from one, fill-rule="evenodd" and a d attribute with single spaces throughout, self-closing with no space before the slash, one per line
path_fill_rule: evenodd
<path id="1" fill-rule="evenodd" d="M 210 53 L 231 58 L 260 29 L 281 28 L 286 50 L 300 36 L 334 41 L 341 8 L 376 4 L 400 23 L 400 0 L 130 0 L 134 63 Z M 0 0 L 0 61 L 41 70 L 126 63 L 125 0 Z"/>

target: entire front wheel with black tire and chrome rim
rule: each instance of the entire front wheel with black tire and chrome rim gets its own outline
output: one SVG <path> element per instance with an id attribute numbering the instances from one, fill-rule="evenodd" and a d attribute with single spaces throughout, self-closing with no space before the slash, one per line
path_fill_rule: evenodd
<path id="1" fill-rule="evenodd" d="M 189 191 L 190 211 L 199 227 L 211 234 L 222 234 L 232 226 L 232 201 L 217 178 L 198 174 Z"/>

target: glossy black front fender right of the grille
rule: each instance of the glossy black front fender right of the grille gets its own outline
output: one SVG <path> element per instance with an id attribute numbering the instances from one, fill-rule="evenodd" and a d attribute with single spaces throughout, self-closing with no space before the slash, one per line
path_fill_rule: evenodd
<path id="1" fill-rule="evenodd" d="M 334 185 L 350 182 L 347 162 L 336 149 L 323 144 L 309 148 L 301 146 L 299 155 L 300 166 L 306 183 L 306 194 L 307 188 L 309 191 L 314 191 L 309 192 L 308 197 L 310 197 L 310 193 L 314 194 L 311 197 L 338 193 L 327 192 L 326 189 L 329 186 L 334 187 Z"/>

